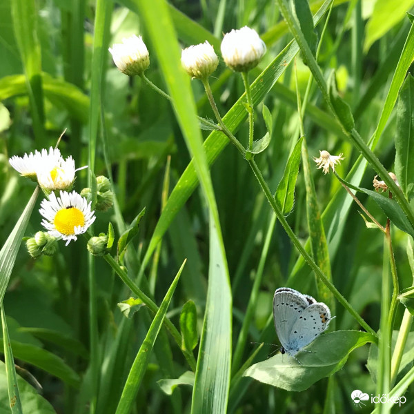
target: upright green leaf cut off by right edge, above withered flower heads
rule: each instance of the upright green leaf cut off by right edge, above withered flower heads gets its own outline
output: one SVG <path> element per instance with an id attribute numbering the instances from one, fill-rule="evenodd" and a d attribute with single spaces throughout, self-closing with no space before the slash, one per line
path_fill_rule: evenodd
<path id="1" fill-rule="evenodd" d="M 400 90 L 395 135 L 395 174 L 402 192 L 414 197 L 414 78 L 408 73 Z"/>

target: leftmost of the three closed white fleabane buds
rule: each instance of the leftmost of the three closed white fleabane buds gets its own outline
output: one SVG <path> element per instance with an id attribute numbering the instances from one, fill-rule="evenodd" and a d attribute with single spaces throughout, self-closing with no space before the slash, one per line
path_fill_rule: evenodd
<path id="1" fill-rule="evenodd" d="M 115 65 L 125 75 L 142 75 L 150 66 L 150 53 L 141 36 L 124 37 L 122 43 L 115 43 L 109 51 Z"/>

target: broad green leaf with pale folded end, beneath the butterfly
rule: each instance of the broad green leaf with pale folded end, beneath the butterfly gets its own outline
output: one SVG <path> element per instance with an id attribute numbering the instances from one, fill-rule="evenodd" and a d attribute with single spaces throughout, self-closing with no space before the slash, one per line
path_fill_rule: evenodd
<path id="1" fill-rule="evenodd" d="M 306 347 L 306 351 L 311 352 L 296 355 L 300 364 L 288 355 L 278 354 L 250 366 L 244 376 L 287 391 L 304 391 L 321 378 L 339 371 L 348 355 L 368 342 L 375 342 L 375 337 L 366 332 L 325 333 Z"/>

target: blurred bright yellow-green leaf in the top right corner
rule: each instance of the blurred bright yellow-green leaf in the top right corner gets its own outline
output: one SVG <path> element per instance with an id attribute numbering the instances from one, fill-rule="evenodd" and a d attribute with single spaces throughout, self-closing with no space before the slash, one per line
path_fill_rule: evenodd
<path id="1" fill-rule="evenodd" d="M 413 5 L 414 0 L 377 0 L 373 14 L 366 24 L 364 51 L 368 51 L 377 39 L 380 39 L 388 30 L 404 19 L 406 12 Z"/>

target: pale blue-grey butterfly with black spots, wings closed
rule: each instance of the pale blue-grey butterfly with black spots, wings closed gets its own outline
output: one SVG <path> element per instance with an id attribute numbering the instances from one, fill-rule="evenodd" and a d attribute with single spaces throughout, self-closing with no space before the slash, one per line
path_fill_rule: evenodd
<path id="1" fill-rule="evenodd" d="M 326 330 L 332 317 L 328 306 L 312 296 L 279 288 L 273 297 L 273 319 L 281 353 L 295 357 Z"/>

